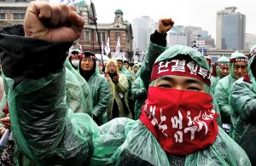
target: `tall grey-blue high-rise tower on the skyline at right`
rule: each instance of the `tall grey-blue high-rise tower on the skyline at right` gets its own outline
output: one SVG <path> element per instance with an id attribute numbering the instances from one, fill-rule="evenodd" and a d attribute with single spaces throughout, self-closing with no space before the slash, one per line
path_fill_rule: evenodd
<path id="1" fill-rule="evenodd" d="M 217 13 L 217 49 L 245 49 L 246 16 L 236 9 L 229 7 Z"/>

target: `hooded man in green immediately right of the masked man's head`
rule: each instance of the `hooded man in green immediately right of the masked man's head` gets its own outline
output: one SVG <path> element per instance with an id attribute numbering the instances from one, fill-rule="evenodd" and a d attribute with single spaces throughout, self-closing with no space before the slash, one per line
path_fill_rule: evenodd
<path id="1" fill-rule="evenodd" d="M 214 94 L 214 90 L 215 90 L 215 87 L 216 87 L 218 81 L 230 73 L 229 72 L 229 63 L 230 63 L 230 60 L 224 55 L 222 55 L 218 59 L 217 66 L 216 66 L 217 76 L 211 77 L 211 89 L 212 89 L 213 94 Z"/>

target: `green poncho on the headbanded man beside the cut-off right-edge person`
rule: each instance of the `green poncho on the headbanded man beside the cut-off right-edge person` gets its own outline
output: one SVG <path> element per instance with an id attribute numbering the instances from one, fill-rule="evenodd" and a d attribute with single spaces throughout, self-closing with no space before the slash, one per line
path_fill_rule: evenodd
<path id="1" fill-rule="evenodd" d="M 231 54 L 230 59 L 235 58 L 247 58 L 245 54 L 242 54 L 238 51 Z M 229 94 L 232 88 L 232 84 L 237 80 L 234 74 L 234 62 L 230 63 L 229 66 L 230 74 L 222 79 L 220 79 L 216 85 L 214 91 L 214 98 L 216 99 L 219 107 L 219 111 L 222 117 L 222 123 L 229 123 L 232 128 L 232 124 L 230 122 L 230 102 L 229 102 Z"/>

